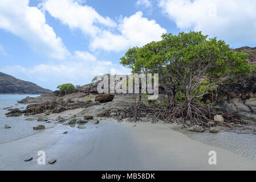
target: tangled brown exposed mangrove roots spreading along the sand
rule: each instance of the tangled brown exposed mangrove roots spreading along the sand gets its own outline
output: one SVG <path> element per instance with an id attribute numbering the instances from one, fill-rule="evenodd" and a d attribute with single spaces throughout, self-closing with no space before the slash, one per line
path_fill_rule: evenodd
<path id="1" fill-rule="evenodd" d="M 113 111 L 115 109 L 115 111 Z M 224 121 L 215 121 L 214 115 L 222 115 Z M 247 125 L 237 115 L 231 113 L 223 113 L 214 110 L 213 107 L 203 105 L 199 102 L 191 103 L 176 103 L 173 107 L 168 109 L 166 105 L 148 104 L 145 102 L 137 102 L 135 107 L 129 109 L 118 110 L 112 108 L 104 111 L 98 115 L 99 117 L 117 117 L 119 119 L 133 118 L 137 119 L 146 117 L 152 119 L 152 123 L 161 120 L 165 123 L 177 122 L 181 123 L 182 127 L 190 127 L 193 125 L 200 125 L 205 128 L 212 126 L 225 126 L 233 128 L 232 123 Z"/>

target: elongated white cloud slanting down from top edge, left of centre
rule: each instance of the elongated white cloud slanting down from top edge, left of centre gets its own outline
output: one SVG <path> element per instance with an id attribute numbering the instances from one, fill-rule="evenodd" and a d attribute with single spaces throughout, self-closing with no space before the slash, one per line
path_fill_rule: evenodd
<path id="1" fill-rule="evenodd" d="M 101 31 L 100 26 L 116 26 L 112 19 L 103 17 L 91 6 L 83 6 L 74 0 L 48 0 L 44 7 L 51 16 L 70 28 L 79 28 L 86 35 L 96 36 Z"/>

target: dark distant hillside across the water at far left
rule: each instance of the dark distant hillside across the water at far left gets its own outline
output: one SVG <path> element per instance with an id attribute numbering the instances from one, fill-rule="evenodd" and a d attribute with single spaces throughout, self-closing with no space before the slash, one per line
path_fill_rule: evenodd
<path id="1" fill-rule="evenodd" d="M 0 93 L 2 94 L 48 94 L 51 92 L 32 82 L 19 80 L 0 72 Z"/>

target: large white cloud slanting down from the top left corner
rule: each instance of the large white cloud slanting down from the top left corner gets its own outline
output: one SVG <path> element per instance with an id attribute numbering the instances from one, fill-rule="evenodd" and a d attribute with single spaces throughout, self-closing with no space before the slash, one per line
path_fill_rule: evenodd
<path id="1" fill-rule="evenodd" d="M 0 28 L 25 40 L 32 49 L 55 59 L 65 59 L 70 53 L 46 24 L 43 13 L 28 6 L 29 0 L 1 0 Z"/>

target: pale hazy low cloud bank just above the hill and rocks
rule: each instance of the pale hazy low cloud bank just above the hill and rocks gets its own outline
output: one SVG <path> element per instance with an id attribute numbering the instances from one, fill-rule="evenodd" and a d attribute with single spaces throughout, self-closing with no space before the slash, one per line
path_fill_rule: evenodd
<path id="1" fill-rule="evenodd" d="M 26 68 L 15 65 L 0 68 L 0 72 L 55 90 L 59 84 L 68 82 L 74 85 L 88 84 L 94 76 L 110 73 L 111 69 L 115 69 L 116 74 L 130 72 L 121 65 L 113 64 L 111 61 L 97 60 L 91 53 L 82 51 L 75 51 L 70 60 L 59 64 L 40 64 Z"/>

